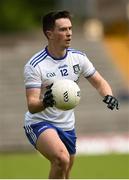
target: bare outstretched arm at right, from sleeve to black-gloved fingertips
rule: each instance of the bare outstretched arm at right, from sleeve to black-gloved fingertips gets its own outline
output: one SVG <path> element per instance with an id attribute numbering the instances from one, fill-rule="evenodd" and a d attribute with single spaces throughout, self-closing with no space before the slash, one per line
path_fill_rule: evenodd
<path id="1" fill-rule="evenodd" d="M 97 71 L 87 79 L 103 97 L 103 102 L 107 104 L 109 109 L 118 109 L 118 100 L 113 96 L 109 83 Z"/>

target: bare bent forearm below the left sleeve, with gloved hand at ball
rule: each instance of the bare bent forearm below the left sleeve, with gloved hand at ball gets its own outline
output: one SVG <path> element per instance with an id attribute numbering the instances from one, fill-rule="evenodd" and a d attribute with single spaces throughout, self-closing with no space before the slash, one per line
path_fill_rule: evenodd
<path id="1" fill-rule="evenodd" d="M 53 107 L 54 100 L 52 91 L 49 88 L 42 98 L 41 88 L 28 88 L 26 89 L 26 99 L 28 110 L 30 113 L 38 113 L 43 111 L 46 107 Z"/>

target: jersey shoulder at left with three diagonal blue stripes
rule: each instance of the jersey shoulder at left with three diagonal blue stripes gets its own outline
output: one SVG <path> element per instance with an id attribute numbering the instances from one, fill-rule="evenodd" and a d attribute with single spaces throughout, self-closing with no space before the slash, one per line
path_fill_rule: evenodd
<path id="1" fill-rule="evenodd" d="M 42 62 L 47 57 L 46 49 L 42 49 L 39 52 L 35 53 L 25 66 L 36 67 L 40 62 Z"/>

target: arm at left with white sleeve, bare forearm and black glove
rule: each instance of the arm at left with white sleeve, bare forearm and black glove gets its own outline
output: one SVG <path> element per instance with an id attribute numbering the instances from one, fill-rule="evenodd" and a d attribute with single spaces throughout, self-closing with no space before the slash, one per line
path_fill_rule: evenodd
<path id="1" fill-rule="evenodd" d="M 26 65 L 24 68 L 26 99 L 28 110 L 30 113 L 38 113 L 46 107 L 53 106 L 53 96 L 51 86 L 42 88 L 42 80 L 40 71 L 31 65 Z M 45 93 L 43 93 L 46 91 Z"/>

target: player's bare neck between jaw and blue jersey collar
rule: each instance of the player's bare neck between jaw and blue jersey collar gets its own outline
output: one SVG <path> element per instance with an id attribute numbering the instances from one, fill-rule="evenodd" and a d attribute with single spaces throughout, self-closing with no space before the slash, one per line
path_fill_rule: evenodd
<path id="1" fill-rule="evenodd" d="M 50 44 L 47 46 L 47 50 L 52 57 L 58 59 L 64 57 L 66 54 L 66 49 L 61 49 Z"/>

